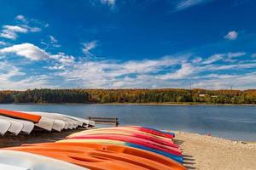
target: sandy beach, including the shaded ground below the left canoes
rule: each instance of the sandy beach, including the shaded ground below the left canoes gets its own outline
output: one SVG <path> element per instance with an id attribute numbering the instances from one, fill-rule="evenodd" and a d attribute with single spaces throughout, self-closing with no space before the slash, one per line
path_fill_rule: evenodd
<path id="1" fill-rule="evenodd" d="M 53 142 L 64 139 L 68 134 L 82 129 L 61 133 L 32 132 L 31 135 L 0 137 L 0 147 L 17 146 L 26 143 Z M 172 131 L 173 132 L 173 131 Z M 255 169 L 256 143 L 245 143 L 200 135 L 177 132 L 175 142 L 180 145 L 184 166 L 188 169 Z"/>

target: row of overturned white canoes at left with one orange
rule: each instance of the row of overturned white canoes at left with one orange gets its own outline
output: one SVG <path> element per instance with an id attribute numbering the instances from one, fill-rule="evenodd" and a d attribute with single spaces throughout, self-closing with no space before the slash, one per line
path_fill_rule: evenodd
<path id="1" fill-rule="evenodd" d="M 0 109 L 0 135 L 5 133 L 29 134 L 34 127 L 61 132 L 63 129 L 95 126 L 95 122 L 74 116 L 48 112 L 8 111 Z"/>

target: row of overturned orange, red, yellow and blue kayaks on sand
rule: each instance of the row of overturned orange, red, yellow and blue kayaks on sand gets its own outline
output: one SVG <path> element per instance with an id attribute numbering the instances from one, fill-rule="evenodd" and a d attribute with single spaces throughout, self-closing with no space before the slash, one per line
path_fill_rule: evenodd
<path id="1" fill-rule="evenodd" d="M 1 152 L 9 152 L 9 160 L 11 154 L 16 153 L 37 155 L 66 161 L 84 169 L 186 169 L 182 165 L 181 150 L 173 143 L 173 138 L 174 133 L 137 126 L 84 130 L 54 143 L 23 144 L 0 150 L 0 167 L 6 162 L 11 164 L 12 161 L 1 157 Z M 28 164 L 29 160 L 23 159 L 20 156 L 20 162 Z M 43 161 L 40 162 L 44 164 Z M 21 163 L 18 164 L 15 166 L 20 166 Z"/>

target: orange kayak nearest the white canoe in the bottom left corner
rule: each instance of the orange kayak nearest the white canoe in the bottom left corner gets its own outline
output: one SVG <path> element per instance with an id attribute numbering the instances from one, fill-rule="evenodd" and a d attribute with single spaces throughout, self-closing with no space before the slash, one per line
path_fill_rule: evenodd
<path id="1" fill-rule="evenodd" d="M 9 148 L 11 150 L 26 151 L 42 156 L 50 156 L 62 161 L 75 163 L 91 169 L 172 169 L 157 161 L 125 154 L 94 149 L 90 147 L 63 145 L 33 145 Z"/>

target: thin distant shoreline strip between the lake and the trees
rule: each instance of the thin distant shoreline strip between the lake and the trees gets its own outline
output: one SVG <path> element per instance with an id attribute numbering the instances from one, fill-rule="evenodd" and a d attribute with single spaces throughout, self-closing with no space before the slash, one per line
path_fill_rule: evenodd
<path id="1" fill-rule="evenodd" d="M 224 105 L 224 106 L 256 106 L 254 104 L 241 104 L 241 105 L 235 105 L 235 104 L 207 104 L 207 103 L 7 103 L 7 104 L 0 104 L 0 105 L 164 105 L 164 106 L 189 106 L 189 105 Z"/>

